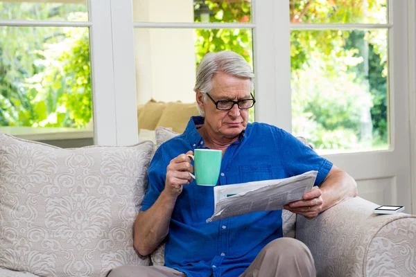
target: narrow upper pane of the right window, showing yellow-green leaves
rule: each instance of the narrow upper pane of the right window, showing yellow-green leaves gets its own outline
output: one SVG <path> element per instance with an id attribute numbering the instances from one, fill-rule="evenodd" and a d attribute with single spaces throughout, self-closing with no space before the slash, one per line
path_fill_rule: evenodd
<path id="1" fill-rule="evenodd" d="M 291 0 L 291 23 L 387 23 L 387 0 Z"/>

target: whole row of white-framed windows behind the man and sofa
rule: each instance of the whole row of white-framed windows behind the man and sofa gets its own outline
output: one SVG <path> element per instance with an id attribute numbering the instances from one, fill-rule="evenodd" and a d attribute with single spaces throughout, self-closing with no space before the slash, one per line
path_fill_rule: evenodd
<path id="1" fill-rule="evenodd" d="M 399 1 L 7 0 L 0 5 L 1 41 L 14 36 L 15 53 L 21 54 L 0 51 L 0 71 L 8 72 L 8 83 L 0 80 L 8 91 L 1 93 L 3 132 L 60 126 L 87 129 L 91 139 L 94 122 L 97 144 L 135 143 L 137 107 L 152 98 L 191 105 L 198 62 L 207 51 L 228 49 L 254 68 L 256 120 L 305 136 L 321 153 L 393 147 L 390 106 L 396 92 L 390 84 L 397 73 L 389 69 L 397 39 L 390 12 L 404 6 Z M 397 26 L 402 43 L 402 25 Z M 76 46 L 78 37 L 89 59 L 69 71 L 62 57 L 73 57 L 69 45 Z M 42 77 L 57 74 L 52 70 L 57 67 L 59 78 Z M 77 78 L 80 73 L 86 77 Z M 10 92 L 10 83 L 19 89 Z M 42 102 L 34 91 L 42 96 L 55 91 L 60 100 Z M 338 97 L 342 101 L 335 101 Z M 77 105 L 71 107 L 67 98 L 76 98 Z M 322 98 L 327 101 L 311 105 Z M 335 117 L 322 116 L 331 109 Z M 88 120 L 93 114 L 94 121 Z"/>

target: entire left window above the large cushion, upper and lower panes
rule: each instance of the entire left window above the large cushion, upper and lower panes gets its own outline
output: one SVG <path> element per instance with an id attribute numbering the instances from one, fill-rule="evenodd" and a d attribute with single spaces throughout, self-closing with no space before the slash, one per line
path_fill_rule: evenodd
<path id="1" fill-rule="evenodd" d="M 93 144 L 86 1 L 0 1 L 0 20 L 0 132 Z"/>

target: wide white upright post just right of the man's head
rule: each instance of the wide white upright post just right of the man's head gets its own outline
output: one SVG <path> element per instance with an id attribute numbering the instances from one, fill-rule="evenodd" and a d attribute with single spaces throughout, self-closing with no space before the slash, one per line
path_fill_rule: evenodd
<path id="1" fill-rule="evenodd" d="M 291 132 L 288 1 L 253 2 L 256 120 Z"/>

